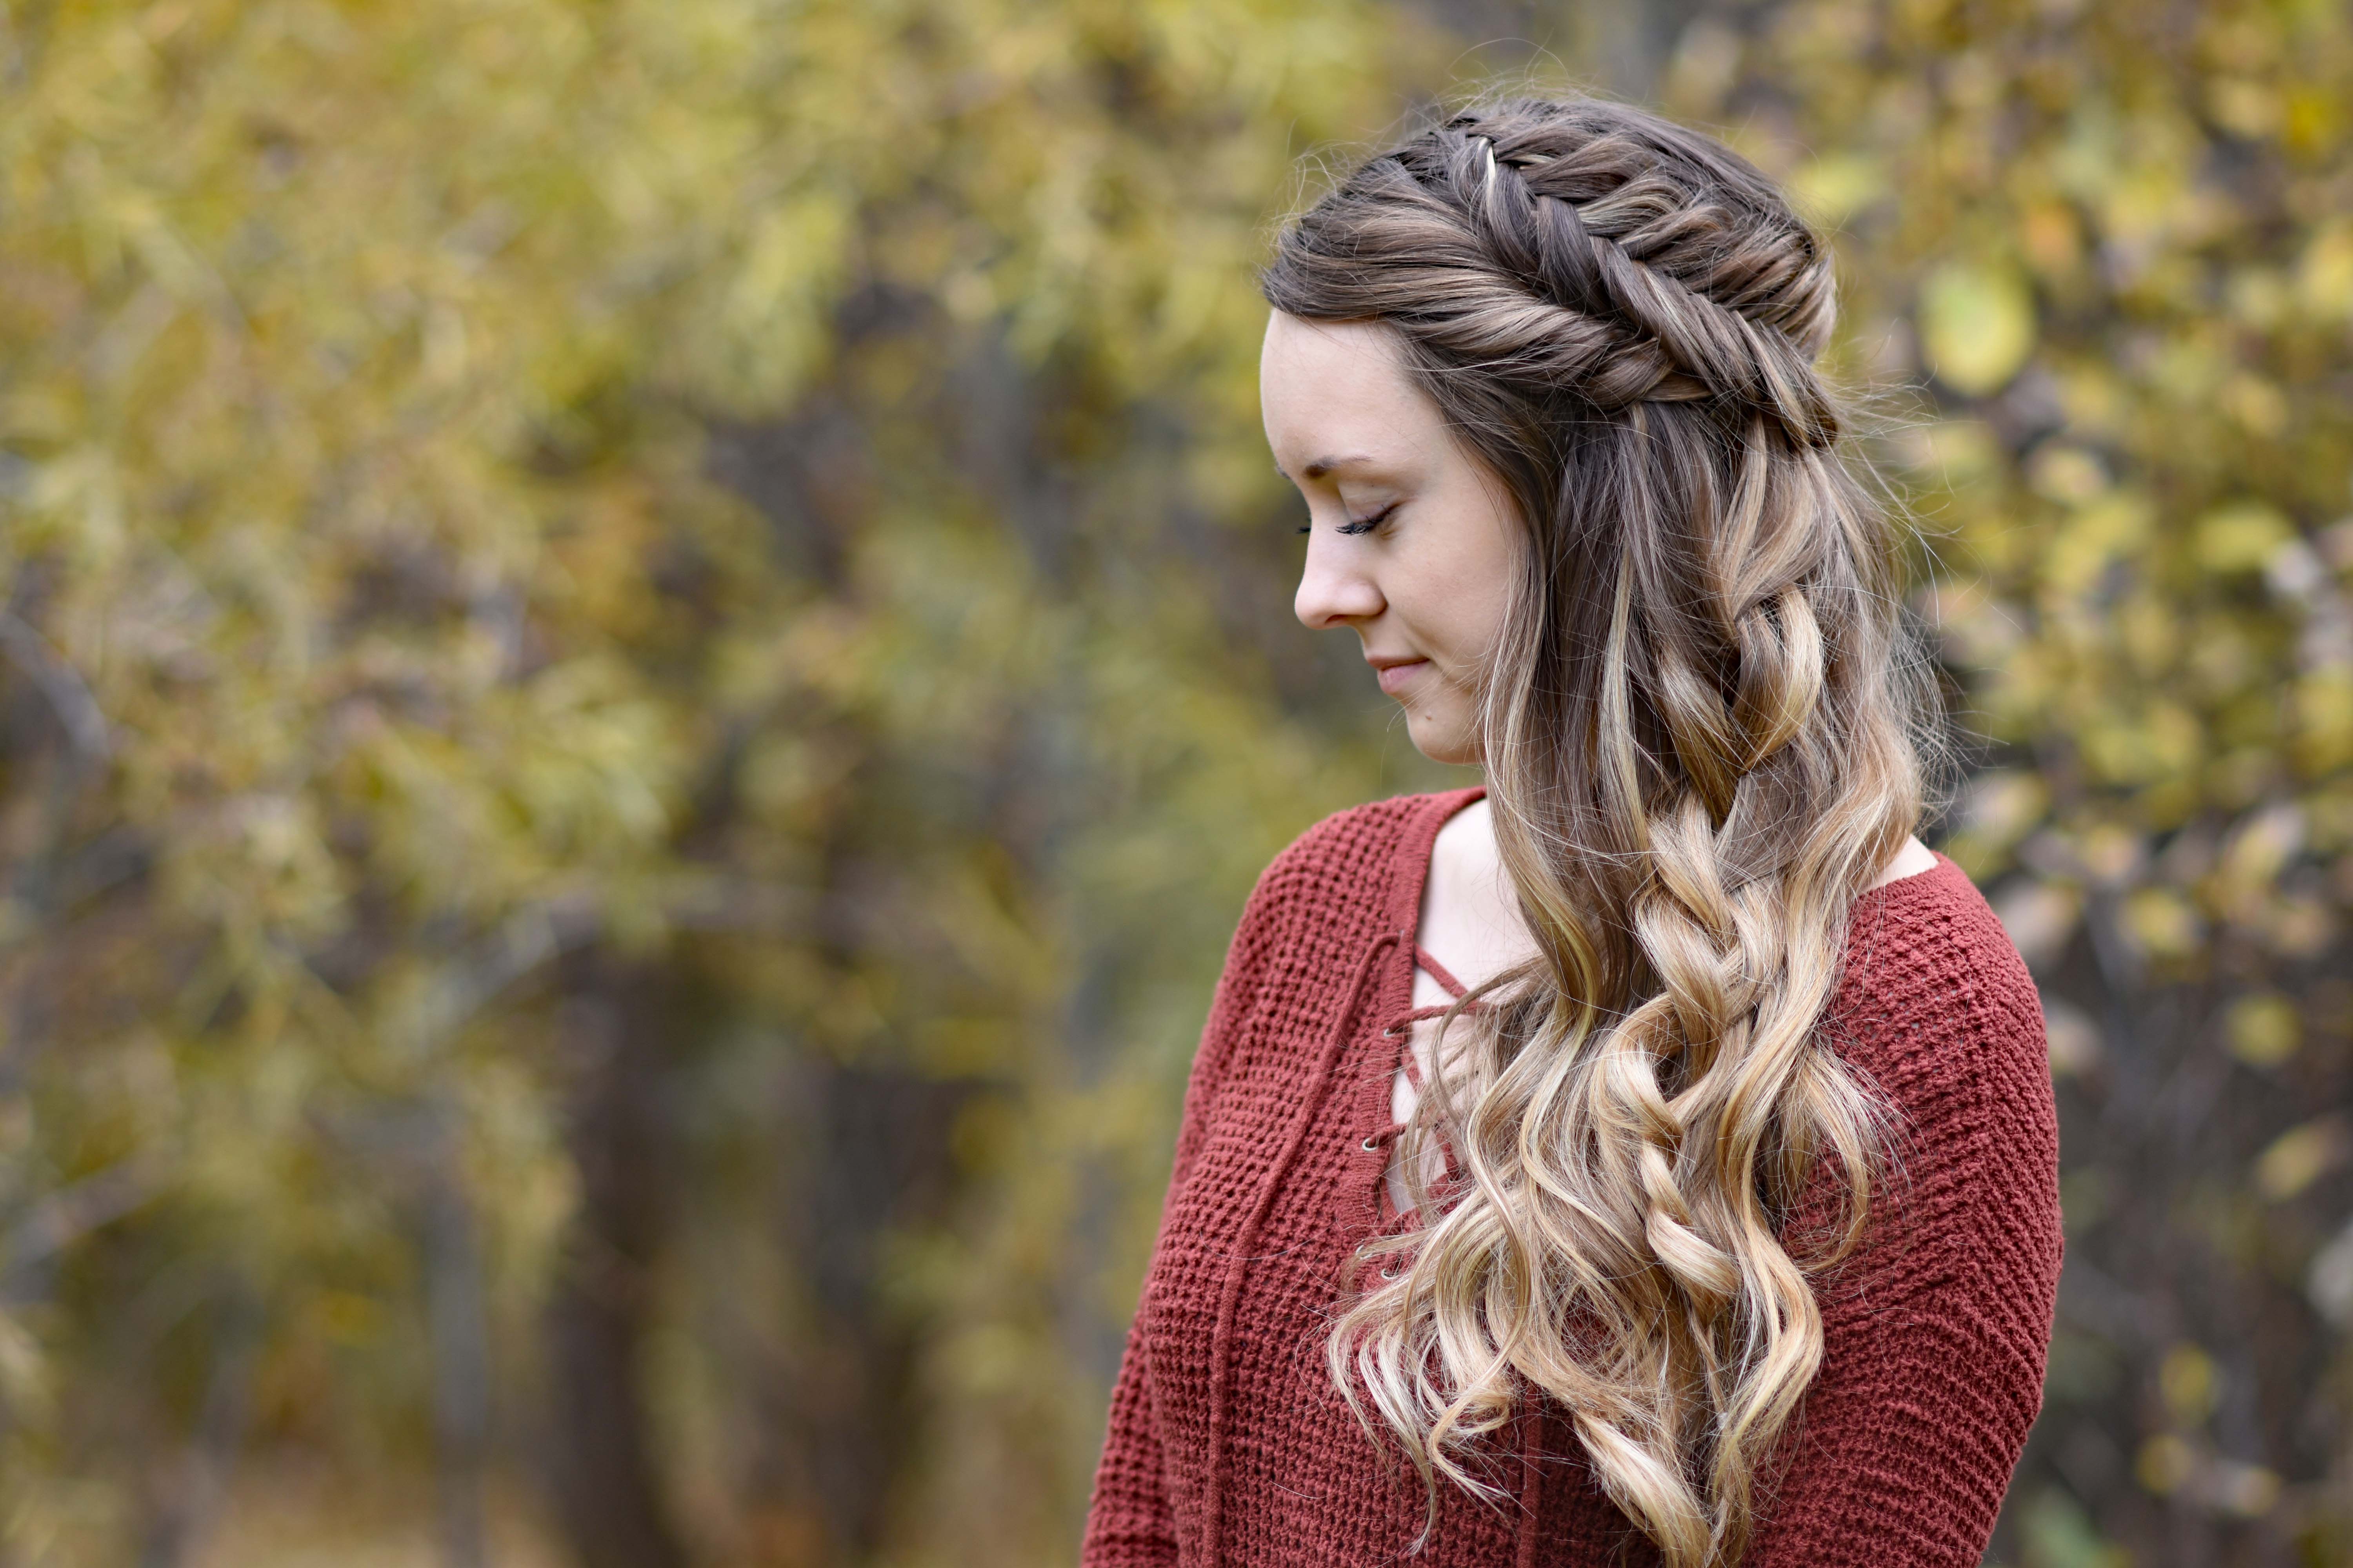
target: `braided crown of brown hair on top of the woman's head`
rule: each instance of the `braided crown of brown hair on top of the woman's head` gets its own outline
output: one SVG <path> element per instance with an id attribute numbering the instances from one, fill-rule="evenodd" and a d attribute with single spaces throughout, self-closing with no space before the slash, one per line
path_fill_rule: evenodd
<path id="1" fill-rule="evenodd" d="M 1297 261 L 1353 273 L 1457 364 L 1600 409 L 1725 400 L 1828 447 L 1828 252 L 1751 165 L 1661 132 L 1558 103 L 1457 115 L 1327 197 L 1379 209 L 1379 247 L 1311 216 Z"/>

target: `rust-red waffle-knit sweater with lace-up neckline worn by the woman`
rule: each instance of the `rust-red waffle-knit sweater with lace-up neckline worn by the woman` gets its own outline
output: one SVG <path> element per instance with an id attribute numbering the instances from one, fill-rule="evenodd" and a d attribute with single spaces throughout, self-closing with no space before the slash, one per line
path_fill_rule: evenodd
<path id="1" fill-rule="evenodd" d="M 1259 879 L 1217 985 L 1160 1241 L 1111 1396 L 1085 1568 L 1388 1563 L 1424 1490 L 1325 1373 L 1381 1222 L 1391 1079 L 1438 825 L 1480 790 L 1358 806 Z M 1824 1020 L 1897 1107 L 1901 1178 L 1821 1286 L 1826 1359 L 1748 1568 L 1974 1568 L 2042 1403 L 2059 1135 L 2033 980 L 1969 879 L 1857 905 Z M 1657 1561 L 1558 1410 L 1499 1446 L 1513 1502 L 1440 1486 L 1428 1568 Z"/>

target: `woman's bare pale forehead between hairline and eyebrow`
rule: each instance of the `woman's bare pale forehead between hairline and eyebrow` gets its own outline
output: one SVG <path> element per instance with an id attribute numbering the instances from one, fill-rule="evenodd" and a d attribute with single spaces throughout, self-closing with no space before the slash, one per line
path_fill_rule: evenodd
<path id="1" fill-rule="evenodd" d="M 1398 336 L 1377 322 L 1304 322 L 1280 310 L 1259 353 L 1259 409 L 1275 465 L 1322 477 L 1334 456 L 1407 463 L 1445 437 L 1428 393 L 1414 386 Z"/>

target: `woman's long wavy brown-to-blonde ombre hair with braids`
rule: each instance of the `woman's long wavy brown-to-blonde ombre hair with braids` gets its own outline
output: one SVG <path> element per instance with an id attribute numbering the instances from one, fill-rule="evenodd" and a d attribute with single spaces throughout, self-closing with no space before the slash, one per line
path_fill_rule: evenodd
<path id="1" fill-rule="evenodd" d="M 1819 1025 L 1932 712 L 1814 369 L 1831 256 L 1706 136 L 1497 101 L 1355 169 L 1264 289 L 1393 329 L 1527 543 L 1480 741 L 1537 957 L 1442 1020 L 1421 1222 L 1332 1375 L 1433 1509 L 1544 1396 L 1668 1568 L 1737 1563 L 1889 1159 Z"/>

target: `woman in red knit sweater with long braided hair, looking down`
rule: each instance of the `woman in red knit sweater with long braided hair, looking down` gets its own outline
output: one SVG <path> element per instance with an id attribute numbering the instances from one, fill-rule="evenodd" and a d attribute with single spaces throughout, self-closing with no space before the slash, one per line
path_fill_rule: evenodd
<path id="1" fill-rule="evenodd" d="M 1351 174 L 1266 296 L 1299 618 L 1487 785 L 1259 879 L 1087 1568 L 1974 1566 L 2057 1126 L 2026 969 L 1911 837 L 1828 254 L 1706 136 L 1511 101 Z"/>

